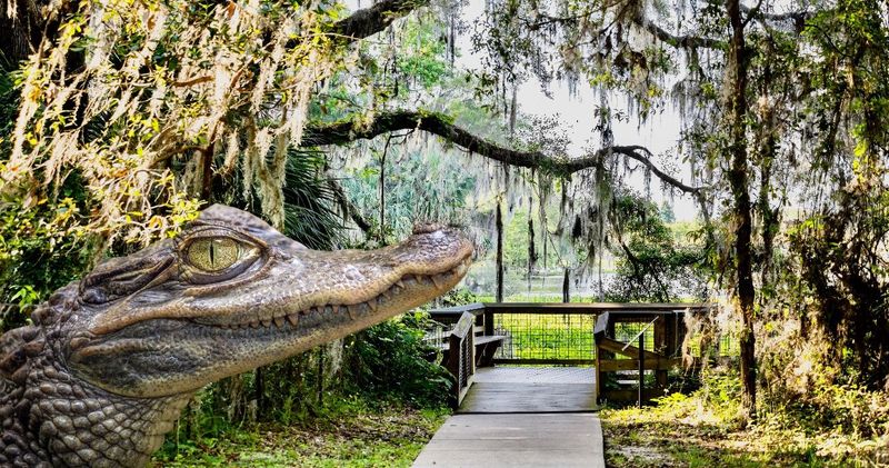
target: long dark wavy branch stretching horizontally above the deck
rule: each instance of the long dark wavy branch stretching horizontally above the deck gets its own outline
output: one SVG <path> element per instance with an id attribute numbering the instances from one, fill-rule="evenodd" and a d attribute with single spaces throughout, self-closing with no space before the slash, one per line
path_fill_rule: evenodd
<path id="1" fill-rule="evenodd" d="M 612 146 L 597 150 L 583 158 L 552 158 L 541 151 L 521 151 L 501 147 L 480 138 L 453 123 L 451 119 L 432 112 L 394 111 L 377 116 L 368 126 L 347 120 L 334 123 L 309 126 L 303 132 L 303 145 L 344 145 L 356 140 L 369 140 L 396 130 L 419 129 L 437 135 L 470 152 L 509 166 L 548 171 L 558 176 L 570 176 L 583 169 L 600 167 L 607 156 L 622 155 L 645 165 L 665 183 L 686 193 L 698 193 L 700 187 L 682 183 L 651 162 L 651 152 L 641 146 Z"/>

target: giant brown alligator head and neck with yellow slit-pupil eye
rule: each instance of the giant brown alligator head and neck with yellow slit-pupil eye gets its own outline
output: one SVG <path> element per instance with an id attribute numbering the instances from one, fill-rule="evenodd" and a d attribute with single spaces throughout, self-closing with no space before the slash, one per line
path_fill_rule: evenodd
<path id="1" fill-rule="evenodd" d="M 471 253 L 436 225 L 378 250 L 316 251 L 213 205 L 0 337 L 0 466 L 144 466 L 201 387 L 420 306 Z"/>

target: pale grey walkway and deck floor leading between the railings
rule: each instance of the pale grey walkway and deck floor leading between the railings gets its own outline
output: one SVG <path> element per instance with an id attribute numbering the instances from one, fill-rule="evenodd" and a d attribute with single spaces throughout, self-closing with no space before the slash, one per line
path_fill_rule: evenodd
<path id="1" fill-rule="evenodd" d="M 414 468 L 603 468 L 595 369 L 480 368 Z"/>

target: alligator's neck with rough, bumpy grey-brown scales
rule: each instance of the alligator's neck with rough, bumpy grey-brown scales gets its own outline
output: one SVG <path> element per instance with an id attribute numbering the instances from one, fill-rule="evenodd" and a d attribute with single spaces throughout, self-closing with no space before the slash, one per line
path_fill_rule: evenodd
<path id="1" fill-rule="evenodd" d="M 0 466 L 144 466 L 189 395 L 129 398 L 48 364 L 0 397 Z"/>

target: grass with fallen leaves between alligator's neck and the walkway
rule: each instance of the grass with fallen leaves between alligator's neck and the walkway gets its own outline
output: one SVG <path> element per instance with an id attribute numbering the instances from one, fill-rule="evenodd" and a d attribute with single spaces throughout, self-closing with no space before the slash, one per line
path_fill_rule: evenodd
<path id="1" fill-rule="evenodd" d="M 257 424 L 219 438 L 169 444 L 156 467 L 409 467 L 446 409 L 351 408 L 302 426 Z"/>

